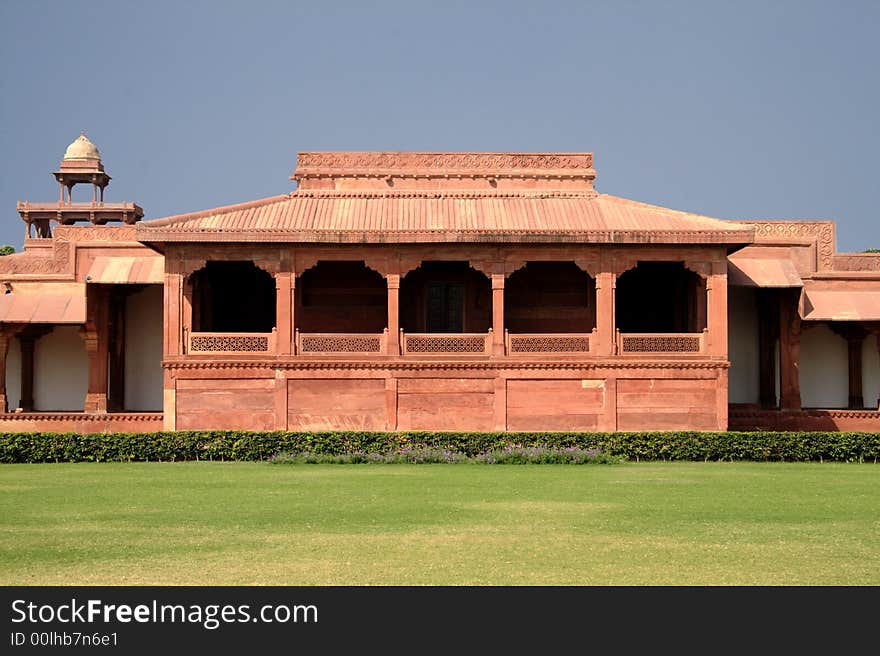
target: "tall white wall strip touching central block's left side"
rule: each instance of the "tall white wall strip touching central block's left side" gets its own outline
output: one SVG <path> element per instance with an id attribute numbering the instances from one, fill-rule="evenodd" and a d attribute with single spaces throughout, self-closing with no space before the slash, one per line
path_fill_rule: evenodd
<path id="1" fill-rule="evenodd" d="M 149 285 L 126 299 L 126 410 L 162 410 L 162 294 L 162 285 Z"/>

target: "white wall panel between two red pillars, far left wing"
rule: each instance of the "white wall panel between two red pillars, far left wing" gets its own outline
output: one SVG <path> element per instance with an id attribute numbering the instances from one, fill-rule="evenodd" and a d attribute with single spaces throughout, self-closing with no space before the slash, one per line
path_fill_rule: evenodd
<path id="1" fill-rule="evenodd" d="M 56 326 L 34 346 L 34 410 L 82 411 L 89 360 L 79 326 Z"/>

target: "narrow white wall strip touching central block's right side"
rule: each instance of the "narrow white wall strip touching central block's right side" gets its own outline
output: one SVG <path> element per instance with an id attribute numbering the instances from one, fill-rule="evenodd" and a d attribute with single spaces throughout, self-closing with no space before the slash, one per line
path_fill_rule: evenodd
<path id="1" fill-rule="evenodd" d="M 758 308 L 755 290 L 733 287 L 727 296 L 730 403 L 759 401 Z"/>

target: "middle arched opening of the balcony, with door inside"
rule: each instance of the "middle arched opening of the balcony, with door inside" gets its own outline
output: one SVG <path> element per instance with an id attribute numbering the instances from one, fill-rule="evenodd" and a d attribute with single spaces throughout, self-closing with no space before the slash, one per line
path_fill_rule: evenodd
<path id="1" fill-rule="evenodd" d="M 492 285 L 467 262 L 422 262 L 400 282 L 400 327 L 415 333 L 485 333 Z"/>

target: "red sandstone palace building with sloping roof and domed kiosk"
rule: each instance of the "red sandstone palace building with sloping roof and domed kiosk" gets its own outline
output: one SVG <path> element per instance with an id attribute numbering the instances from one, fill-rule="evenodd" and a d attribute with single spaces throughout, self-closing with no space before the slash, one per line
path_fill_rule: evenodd
<path id="1" fill-rule="evenodd" d="M 54 175 L 0 258 L 2 430 L 880 430 L 880 256 L 830 221 L 609 196 L 590 153 L 300 153 L 151 221 L 84 136 Z"/>

